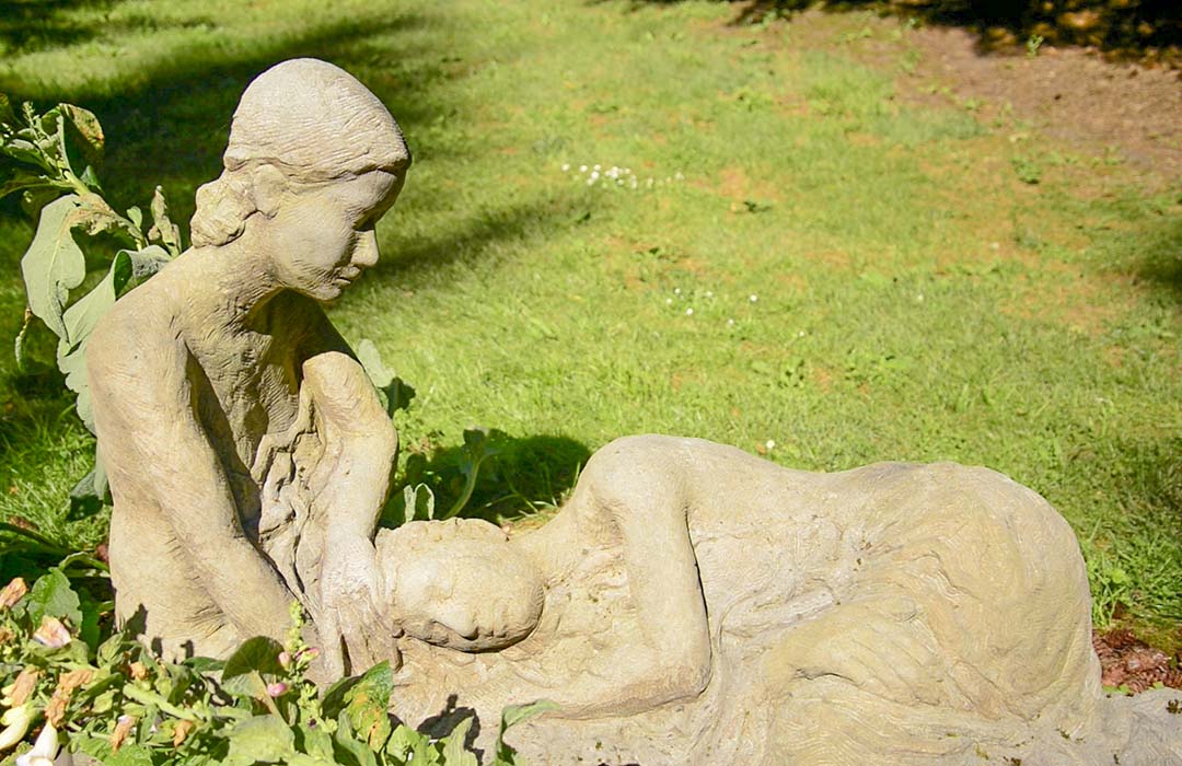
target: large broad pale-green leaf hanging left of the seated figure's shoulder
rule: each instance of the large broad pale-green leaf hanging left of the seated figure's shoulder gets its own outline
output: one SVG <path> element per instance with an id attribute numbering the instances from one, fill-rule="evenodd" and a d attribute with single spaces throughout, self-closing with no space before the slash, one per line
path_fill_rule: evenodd
<path id="1" fill-rule="evenodd" d="M 59 197 L 41 209 L 33 242 L 20 260 L 28 307 L 59 338 L 67 337 L 63 314 L 70 291 L 86 278 L 86 258 L 70 233 L 80 209 L 77 195 Z"/>

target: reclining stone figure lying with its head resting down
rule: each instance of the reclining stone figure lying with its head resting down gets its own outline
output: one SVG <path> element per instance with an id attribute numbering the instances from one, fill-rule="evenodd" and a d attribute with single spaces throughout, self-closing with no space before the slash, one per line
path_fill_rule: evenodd
<path id="1" fill-rule="evenodd" d="M 539 766 L 1182 762 L 1169 690 L 1100 693 L 1067 524 L 985 468 L 634 436 L 534 532 L 414 522 L 377 548 L 395 713 L 553 700 L 511 735 Z"/>

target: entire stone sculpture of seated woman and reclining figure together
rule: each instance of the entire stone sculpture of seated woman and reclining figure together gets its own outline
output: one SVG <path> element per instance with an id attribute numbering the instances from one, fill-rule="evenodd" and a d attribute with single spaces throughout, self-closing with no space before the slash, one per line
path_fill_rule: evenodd
<path id="1" fill-rule="evenodd" d="M 603 448 L 537 531 L 377 532 L 397 440 L 318 301 L 377 259 L 410 156 L 342 70 L 247 89 L 194 247 L 90 340 L 121 621 L 165 654 L 281 636 L 388 658 L 414 725 L 559 708 L 530 762 L 1182 762 L 1169 693 L 1100 694 L 1074 537 L 955 465 L 790 470 L 700 440 Z M 1115 761 L 1113 759 L 1118 759 Z"/>

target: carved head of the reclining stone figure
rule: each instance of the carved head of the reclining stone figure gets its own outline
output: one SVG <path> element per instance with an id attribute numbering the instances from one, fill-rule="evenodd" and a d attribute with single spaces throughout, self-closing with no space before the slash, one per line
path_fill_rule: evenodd
<path id="1" fill-rule="evenodd" d="M 411 521 L 381 531 L 376 545 L 394 621 L 409 636 L 486 651 L 518 643 L 538 625 L 541 577 L 487 521 Z"/>

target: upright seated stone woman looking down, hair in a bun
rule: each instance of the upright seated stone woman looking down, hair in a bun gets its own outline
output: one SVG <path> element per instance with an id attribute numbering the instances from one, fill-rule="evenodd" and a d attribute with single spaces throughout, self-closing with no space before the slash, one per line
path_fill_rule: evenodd
<path id="1" fill-rule="evenodd" d="M 223 164 L 197 192 L 191 249 L 90 340 L 117 617 L 142 612 L 165 654 L 217 656 L 281 637 L 294 596 L 326 673 L 365 667 L 391 650 L 371 539 L 397 440 L 317 301 L 377 261 L 410 155 L 359 82 L 298 59 L 247 87 Z M 317 580 L 292 579 L 297 548 Z"/>

